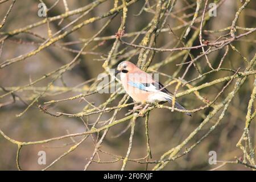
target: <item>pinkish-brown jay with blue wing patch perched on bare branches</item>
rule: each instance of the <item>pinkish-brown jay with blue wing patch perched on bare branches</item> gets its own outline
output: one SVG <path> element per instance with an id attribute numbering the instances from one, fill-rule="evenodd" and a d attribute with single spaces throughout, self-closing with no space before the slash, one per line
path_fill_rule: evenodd
<path id="1" fill-rule="evenodd" d="M 121 84 L 126 93 L 135 102 L 147 103 L 143 110 L 139 112 L 139 115 L 143 115 L 144 110 L 152 102 L 169 102 L 172 104 L 174 94 L 169 92 L 159 81 L 154 80 L 152 74 L 142 71 L 137 65 L 130 61 L 122 61 L 115 69 L 115 76 L 118 73 L 120 73 Z M 141 109 L 141 107 L 134 107 L 134 110 Z M 180 110 L 186 110 L 176 101 L 174 107 Z M 185 114 L 192 116 L 191 113 Z"/>

